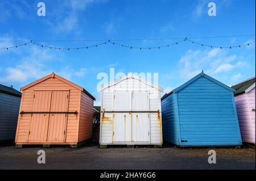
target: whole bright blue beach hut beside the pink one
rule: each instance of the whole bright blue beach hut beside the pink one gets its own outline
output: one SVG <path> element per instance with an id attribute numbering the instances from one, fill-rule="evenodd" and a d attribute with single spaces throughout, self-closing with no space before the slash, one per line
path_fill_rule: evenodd
<path id="1" fill-rule="evenodd" d="M 180 146 L 241 145 L 234 91 L 202 71 L 164 95 L 163 139 Z"/>

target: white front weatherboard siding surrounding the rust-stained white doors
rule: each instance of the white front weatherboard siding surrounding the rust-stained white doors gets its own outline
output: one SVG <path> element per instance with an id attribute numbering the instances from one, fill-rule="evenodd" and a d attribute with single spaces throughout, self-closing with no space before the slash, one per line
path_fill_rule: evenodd
<path id="1" fill-rule="evenodd" d="M 160 91 L 138 79 L 127 78 L 102 91 L 101 111 L 113 111 L 114 91 L 148 91 L 150 111 L 161 112 Z M 105 113 L 108 120 L 102 120 L 100 144 L 113 144 L 113 113 Z M 157 113 L 150 113 L 150 144 L 162 144 L 162 123 Z"/>

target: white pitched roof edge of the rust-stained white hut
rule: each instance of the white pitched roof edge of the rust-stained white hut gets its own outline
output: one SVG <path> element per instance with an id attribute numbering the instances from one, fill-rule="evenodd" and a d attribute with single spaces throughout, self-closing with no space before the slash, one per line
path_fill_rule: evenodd
<path id="1" fill-rule="evenodd" d="M 115 80 L 114 82 L 109 82 L 108 85 L 104 86 L 101 89 L 101 91 L 103 91 L 104 89 L 107 89 L 108 87 L 115 86 L 115 85 L 117 85 L 117 83 L 122 82 L 123 80 L 129 79 L 129 78 L 137 79 L 138 81 L 141 81 L 141 82 L 145 83 L 148 86 L 155 87 L 155 89 L 158 89 L 159 91 L 163 92 L 163 88 L 162 87 L 153 85 L 152 83 L 147 82 L 142 77 L 139 77 L 137 74 L 134 74 L 134 73 L 130 73 L 128 75 L 125 75 L 125 76 Z"/>

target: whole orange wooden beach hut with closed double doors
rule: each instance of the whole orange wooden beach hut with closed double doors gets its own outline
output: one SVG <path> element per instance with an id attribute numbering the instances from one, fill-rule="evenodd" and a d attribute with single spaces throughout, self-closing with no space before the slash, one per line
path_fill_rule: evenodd
<path id="1" fill-rule="evenodd" d="M 52 73 L 20 88 L 16 147 L 71 145 L 92 138 L 93 101 L 84 88 Z"/>

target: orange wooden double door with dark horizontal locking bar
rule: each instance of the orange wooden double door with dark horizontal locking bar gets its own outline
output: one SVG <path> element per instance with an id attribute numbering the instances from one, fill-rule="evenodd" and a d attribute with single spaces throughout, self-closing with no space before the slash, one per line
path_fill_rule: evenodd
<path id="1" fill-rule="evenodd" d="M 69 91 L 35 91 L 28 142 L 64 142 Z"/>

